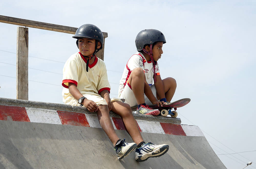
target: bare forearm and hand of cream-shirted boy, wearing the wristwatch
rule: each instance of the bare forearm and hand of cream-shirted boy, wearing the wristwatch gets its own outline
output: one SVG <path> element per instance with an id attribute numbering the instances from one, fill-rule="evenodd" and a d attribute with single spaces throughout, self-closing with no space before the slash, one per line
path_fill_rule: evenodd
<path id="1" fill-rule="evenodd" d="M 80 93 L 80 91 L 77 89 L 76 84 L 74 83 L 68 83 L 68 90 L 70 92 L 70 94 L 75 98 L 75 99 L 79 99 L 81 97 L 83 97 L 83 95 Z M 97 104 L 92 101 L 92 100 L 88 100 L 88 99 L 84 99 L 83 100 L 83 105 L 90 111 L 90 112 L 96 112 L 98 111 L 98 106 Z"/>

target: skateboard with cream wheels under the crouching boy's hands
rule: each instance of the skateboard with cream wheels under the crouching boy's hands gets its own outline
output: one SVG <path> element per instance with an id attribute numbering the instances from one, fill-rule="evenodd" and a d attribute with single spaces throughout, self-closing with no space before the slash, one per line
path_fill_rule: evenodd
<path id="1" fill-rule="evenodd" d="M 161 116 L 167 116 L 169 114 L 171 117 L 177 117 L 178 113 L 176 111 L 172 111 L 172 109 L 183 107 L 186 104 L 188 104 L 189 102 L 190 102 L 189 98 L 184 98 L 184 99 L 177 100 L 175 102 L 165 104 L 165 105 L 163 105 L 163 107 L 157 106 L 157 104 L 152 104 L 152 105 L 148 105 L 148 106 L 155 110 L 158 109 L 160 111 Z M 137 110 L 137 106 L 133 106 L 131 108 L 132 108 L 132 111 Z"/>

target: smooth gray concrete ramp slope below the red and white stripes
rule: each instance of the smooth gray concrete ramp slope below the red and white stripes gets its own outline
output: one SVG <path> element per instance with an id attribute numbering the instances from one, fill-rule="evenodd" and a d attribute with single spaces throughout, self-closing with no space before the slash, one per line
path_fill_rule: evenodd
<path id="1" fill-rule="evenodd" d="M 131 142 L 125 130 L 116 130 Z M 167 143 L 160 158 L 119 161 L 101 128 L 0 120 L 0 168 L 226 168 L 205 137 L 142 133 L 146 142 Z"/>

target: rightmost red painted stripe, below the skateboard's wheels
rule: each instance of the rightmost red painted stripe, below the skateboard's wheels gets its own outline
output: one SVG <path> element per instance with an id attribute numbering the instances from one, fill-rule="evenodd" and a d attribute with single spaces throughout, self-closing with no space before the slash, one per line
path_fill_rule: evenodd
<path id="1" fill-rule="evenodd" d="M 165 134 L 177 135 L 177 136 L 186 136 L 181 125 L 178 124 L 170 124 L 170 123 L 161 123 L 161 126 L 165 132 Z"/>

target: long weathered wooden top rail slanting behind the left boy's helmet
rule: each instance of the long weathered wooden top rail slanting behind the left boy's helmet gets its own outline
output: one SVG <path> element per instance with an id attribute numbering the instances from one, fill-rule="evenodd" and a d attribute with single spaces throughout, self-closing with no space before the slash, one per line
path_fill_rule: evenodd
<path id="1" fill-rule="evenodd" d="M 62 25 L 56 25 L 56 24 L 52 24 L 52 23 L 38 22 L 38 21 L 33 21 L 33 20 L 3 16 L 3 15 L 0 15 L 0 22 L 9 23 L 9 24 L 13 24 L 13 25 L 19 25 L 19 26 L 26 26 L 26 27 L 30 27 L 30 28 L 70 33 L 70 34 L 75 34 L 77 31 L 77 28 L 75 28 L 75 27 L 62 26 Z M 106 32 L 102 32 L 102 33 L 103 33 L 104 38 L 108 37 L 108 33 L 106 33 Z"/>

